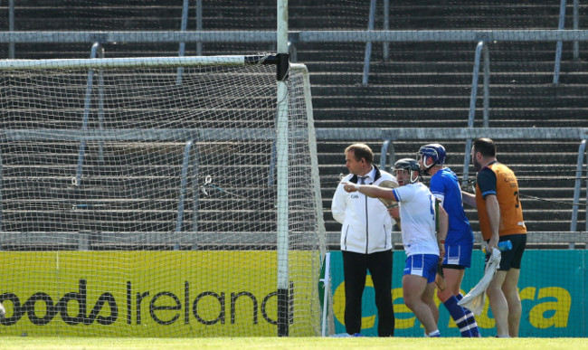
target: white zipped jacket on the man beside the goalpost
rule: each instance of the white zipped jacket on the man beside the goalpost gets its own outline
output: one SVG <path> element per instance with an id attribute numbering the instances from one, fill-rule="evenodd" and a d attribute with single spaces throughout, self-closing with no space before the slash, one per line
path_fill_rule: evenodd
<path id="1" fill-rule="evenodd" d="M 380 184 L 384 180 L 396 182 L 396 178 L 374 166 L 368 174 L 371 178 L 365 184 Z M 331 213 L 341 223 L 341 251 L 353 251 L 370 254 L 392 249 L 393 221 L 384 206 L 377 198 L 369 198 L 365 194 L 354 192 L 348 194 L 343 189 L 346 182 L 357 183 L 357 175 L 346 175 L 338 184 Z"/>

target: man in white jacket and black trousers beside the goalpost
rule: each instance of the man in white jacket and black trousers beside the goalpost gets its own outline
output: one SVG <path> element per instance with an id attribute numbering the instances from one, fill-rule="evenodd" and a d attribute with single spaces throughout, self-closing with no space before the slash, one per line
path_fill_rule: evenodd
<path id="1" fill-rule="evenodd" d="M 345 326 L 350 335 L 361 333 L 361 301 L 367 270 L 375 289 L 378 309 L 378 336 L 394 336 L 392 305 L 392 227 L 394 219 L 384 203 L 364 194 L 346 193 L 346 183 L 381 184 L 396 178 L 375 166 L 374 153 L 365 144 L 346 148 L 346 175 L 337 186 L 331 212 L 341 228 L 341 251 L 345 276 Z M 398 217 L 398 209 L 395 209 Z"/>

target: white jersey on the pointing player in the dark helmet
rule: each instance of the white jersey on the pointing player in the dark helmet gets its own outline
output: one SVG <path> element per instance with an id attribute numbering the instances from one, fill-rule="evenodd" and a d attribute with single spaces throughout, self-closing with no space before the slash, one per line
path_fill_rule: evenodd
<path id="1" fill-rule="evenodd" d="M 417 182 L 396 187 L 393 191 L 400 203 L 400 223 L 406 255 L 439 256 L 439 243 L 435 233 L 434 197 L 429 188 Z"/>

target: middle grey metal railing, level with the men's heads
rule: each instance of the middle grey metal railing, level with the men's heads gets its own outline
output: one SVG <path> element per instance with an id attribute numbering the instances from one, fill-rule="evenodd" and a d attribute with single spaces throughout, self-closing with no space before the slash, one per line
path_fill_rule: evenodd
<path id="1" fill-rule="evenodd" d="M 195 139 L 213 138 L 224 140 L 229 138 L 242 139 L 274 139 L 274 130 L 272 129 L 243 129 L 235 135 L 235 131 L 228 132 L 223 129 L 63 129 L 63 130 L 43 130 L 43 129 L 3 129 L 0 130 L 0 139 L 5 141 L 48 141 L 48 140 L 93 140 L 93 141 L 111 141 L 111 140 L 185 140 L 184 156 L 182 162 L 182 175 L 180 192 L 177 201 L 177 216 L 175 222 L 175 232 L 183 232 L 184 225 L 184 207 L 185 194 L 188 177 L 196 178 L 197 174 L 189 174 L 190 166 L 192 172 L 197 172 L 198 155 L 193 151 Z M 293 130 L 296 132 L 296 130 Z M 138 138 L 140 137 L 140 138 Z M 394 164 L 394 141 L 399 140 L 431 140 L 439 137 L 439 130 L 432 128 L 317 128 L 316 137 L 318 141 L 327 140 L 365 140 L 382 141 L 380 166 L 385 169 L 388 165 Z M 570 232 L 577 231 L 578 212 L 580 207 L 580 194 L 582 190 L 582 173 L 584 166 L 584 154 L 586 153 L 586 139 L 588 138 L 588 128 L 444 128 L 443 138 L 447 140 L 468 140 L 479 137 L 490 137 L 493 139 L 577 139 L 580 140 L 578 149 L 578 160 L 576 165 L 576 175 L 574 183 L 574 203 L 573 213 L 570 224 Z M 194 156 L 191 156 L 194 154 Z M 469 152 L 466 152 L 469 155 Z M 192 158 L 192 160 L 191 160 Z M 588 165 L 588 159 L 586 160 Z M 2 169 L 2 154 L 0 153 L 0 170 Z M 2 173 L 0 172 L 0 184 L 2 183 Z M 192 184 L 195 186 L 196 184 Z M 588 182 L 586 184 L 588 187 Z M 197 212 L 195 208 L 199 198 L 198 191 L 192 190 L 193 193 L 193 227 L 192 232 L 197 232 Z M 2 187 L 0 187 L 0 199 L 2 199 Z M 586 198 L 588 203 L 588 194 Z M 588 218 L 588 207 L 586 207 L 586 218 Z M 0 206 L 0 219 L 2 218 L 2 206 Z M 2 221 L 0 220 L 0 225 Z M 584 231 L 588 232 L 588 220 L 585 222 Z M 0 227 L 1 228 L 1 227 Z"/>

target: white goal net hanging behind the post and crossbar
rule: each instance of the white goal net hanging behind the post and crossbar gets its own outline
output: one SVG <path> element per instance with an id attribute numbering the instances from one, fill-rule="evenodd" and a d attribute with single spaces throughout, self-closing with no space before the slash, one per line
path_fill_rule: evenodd
<path id="1" fill-rule="evenodd" d="M 280 181 L 289 335 L 320 333 L 308 72 L 280 179 L 270 56 L 0 61 L 6 335 L 276 336 Z"/>

